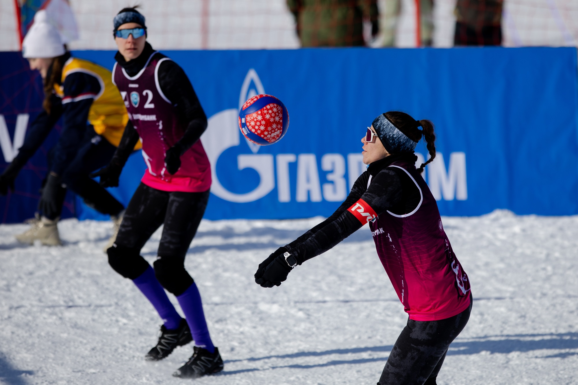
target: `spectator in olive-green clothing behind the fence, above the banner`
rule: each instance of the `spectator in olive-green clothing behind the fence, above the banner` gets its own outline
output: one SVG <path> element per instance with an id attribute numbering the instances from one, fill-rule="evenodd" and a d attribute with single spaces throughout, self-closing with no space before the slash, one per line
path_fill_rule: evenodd
<path id="1" fill-rule="evenodd" d="M 287 0 L 303 47 L 364 46 L 363 21 L 379 32 L 377 0 Z"/>

